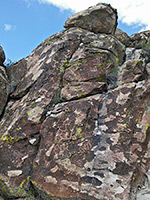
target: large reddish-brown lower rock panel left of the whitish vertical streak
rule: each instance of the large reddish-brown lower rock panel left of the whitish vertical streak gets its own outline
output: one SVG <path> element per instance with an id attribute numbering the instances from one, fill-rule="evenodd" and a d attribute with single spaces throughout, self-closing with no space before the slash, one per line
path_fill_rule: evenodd
<path id="1" fill-rule="evenodd" d="M 43 122 L 31 180 L 51 196 L 90 198 L 81 191 L 88 182 L 88 163 L 93 159 L 91 150 L 100 97 L 58 104 Z"/>

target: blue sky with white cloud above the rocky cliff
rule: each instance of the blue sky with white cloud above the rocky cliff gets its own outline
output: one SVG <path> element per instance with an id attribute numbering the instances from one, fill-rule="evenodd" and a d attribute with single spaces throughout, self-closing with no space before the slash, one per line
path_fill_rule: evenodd
<path id="1" fill-rule="evenodd" d="M 105 0 L 114 5 L 117 5 L 116 1 Z M 28 56 L 43 40 L 61 31 L 65 21 L 73 13 L 100 1 L 82 0 L 83 5 L 80 2 L 78 0 L 0 0 L 0 45 L 6 57 L 14 62 Z M 130 8 L 132 6 L 130 5 Z M 148 26 L 148 22 L 142 21 L 141 18 L 132 18 L 132 14 L 131 17 L 129 15 L 126 18 L 125 9 L 121 9 L 120 6 L 118 28 L 128 35 Z"/>

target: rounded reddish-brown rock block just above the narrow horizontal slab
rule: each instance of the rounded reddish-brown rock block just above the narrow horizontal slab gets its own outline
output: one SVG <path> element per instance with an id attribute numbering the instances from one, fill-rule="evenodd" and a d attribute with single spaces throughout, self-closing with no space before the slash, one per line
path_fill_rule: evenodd
<path id="1" fill-rule="evenodd" d="M 85 58 L 69 63 L 63 82 L 106 82 L 107 75 L 113 71 L 115 64 L 115 58 L 109 51 L 86 52 Z"/>

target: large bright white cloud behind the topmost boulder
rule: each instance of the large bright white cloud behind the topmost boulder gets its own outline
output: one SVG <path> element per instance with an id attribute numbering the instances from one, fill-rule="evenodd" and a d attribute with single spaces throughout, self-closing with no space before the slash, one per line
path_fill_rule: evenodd
<path id="1" fill-rule="evenodd" d="M 25 0 L 31 2 L 33 0 Z M 34 0 L 35 1 L 35 0 Z M 117 8 L 119 19 L 128 25 L 145 25 L 150 29 L 150 1 L 148 0 L 37 0 L 39 3 L 53 4 L 61 9 L 81 11 L 99 2 L 110 3 Z"/>

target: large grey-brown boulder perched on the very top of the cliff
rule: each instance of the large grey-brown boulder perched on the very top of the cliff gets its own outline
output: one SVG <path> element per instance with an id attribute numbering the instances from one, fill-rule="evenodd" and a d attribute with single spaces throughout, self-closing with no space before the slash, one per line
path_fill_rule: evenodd
<path id="1" fill-rule="evenodd" d="M 114 34 L 117 11 L 110 4 L 99 3 L 70 17 L 64 27 L 80 27 L 94 33 Z"/>

